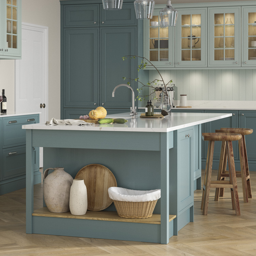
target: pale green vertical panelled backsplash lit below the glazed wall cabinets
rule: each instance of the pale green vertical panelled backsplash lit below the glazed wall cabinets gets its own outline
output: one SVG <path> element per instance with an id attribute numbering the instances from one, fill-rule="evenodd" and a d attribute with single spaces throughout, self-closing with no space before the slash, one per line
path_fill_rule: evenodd
<path id="1" fill-rule="evenodd" d="M 256 69 L 159 70 L 163 80 L 177 87 L 175 100 L 256 100 Z M 149 79 L 160 79 L 155 70 Z M 159 82 L 160 84 L 161 82 Z"/>

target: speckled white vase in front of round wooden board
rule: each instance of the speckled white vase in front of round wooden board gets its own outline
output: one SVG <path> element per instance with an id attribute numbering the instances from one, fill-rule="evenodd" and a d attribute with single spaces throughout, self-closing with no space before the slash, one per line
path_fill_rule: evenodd
<path id="1" fill-rule="evenodd" d="M 73 215 L 84 215 L 87 211 L 87 189 L 83 179 L 74 179 L 70 188 L 69 209 Z"/>

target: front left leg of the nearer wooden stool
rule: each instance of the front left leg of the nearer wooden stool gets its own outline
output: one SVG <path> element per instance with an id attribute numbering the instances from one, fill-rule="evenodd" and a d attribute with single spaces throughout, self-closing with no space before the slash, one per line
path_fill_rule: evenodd
<path id="1" fill-rule="evenodd" d="M 209 146 L 208 165 L 207 165 L 207 173 L 206 173 L 207 177 L 206 177 L 206 183 L 205 183 L 205 194 L 204 194 L 204 202 L 203 202 L 203 215 L 207 215 L 207 212 L 208 212 L 211 176 L 212 176 L 214 141 L 210 141 L 209 144 L 210 146 Z"/>

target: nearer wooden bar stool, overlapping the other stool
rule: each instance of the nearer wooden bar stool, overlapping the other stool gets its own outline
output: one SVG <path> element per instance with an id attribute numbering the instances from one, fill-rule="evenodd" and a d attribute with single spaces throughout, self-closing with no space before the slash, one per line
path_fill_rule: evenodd
<path id="1" fill-rule="evenodd" d="M 238 133 L 202 133 L 202 138 L 204 141 L 209 141 L 205 175 L 204 175 L 204 183 L 203 183 L 203 195 L 202 195 L 202 202 L 201 202 L 201 209 L 203 209 L 203 215 L 207 215 L 207 212 L 208 212 L 209 194 L 210 194 L 211 187 L 230 188 L 232 209 L 236 210 L 236 215 L 240 215 L 232 141 L 240 140 L 242 138 L 242 135 Z M 213 160 L 213 150 L 214 150 L 215 141 L 222 141 L 222 147 L 224 147 L 224 150 L 221 151 L 219 166 L 223 166 L 223 160 L 225 158 L 225 154 L 224 154 L 225 150 L 227 152 L 226 160 L 228 159 L 228 169 L 229 169 L 229 177 L 230 177 L 229 181 L 225 181 L 225 180 L 211 181 L 212 160 Z M 226 145 L 227 145 L 227 148 L 226 148 Z"/>

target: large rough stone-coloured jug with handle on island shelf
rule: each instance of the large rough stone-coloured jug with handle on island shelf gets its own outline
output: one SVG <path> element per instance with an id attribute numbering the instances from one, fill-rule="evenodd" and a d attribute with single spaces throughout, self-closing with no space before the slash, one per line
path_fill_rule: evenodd
<path id="1" fill-rule="evenodd" d="M 48 175 L 49 170 L 54 170 Z M 45 204 L 50 212 L 69 211 L 69 193 L 73 183 L 70 174 L 64 168 L 48 168 L 44 171 L 43 194 Z"/>

